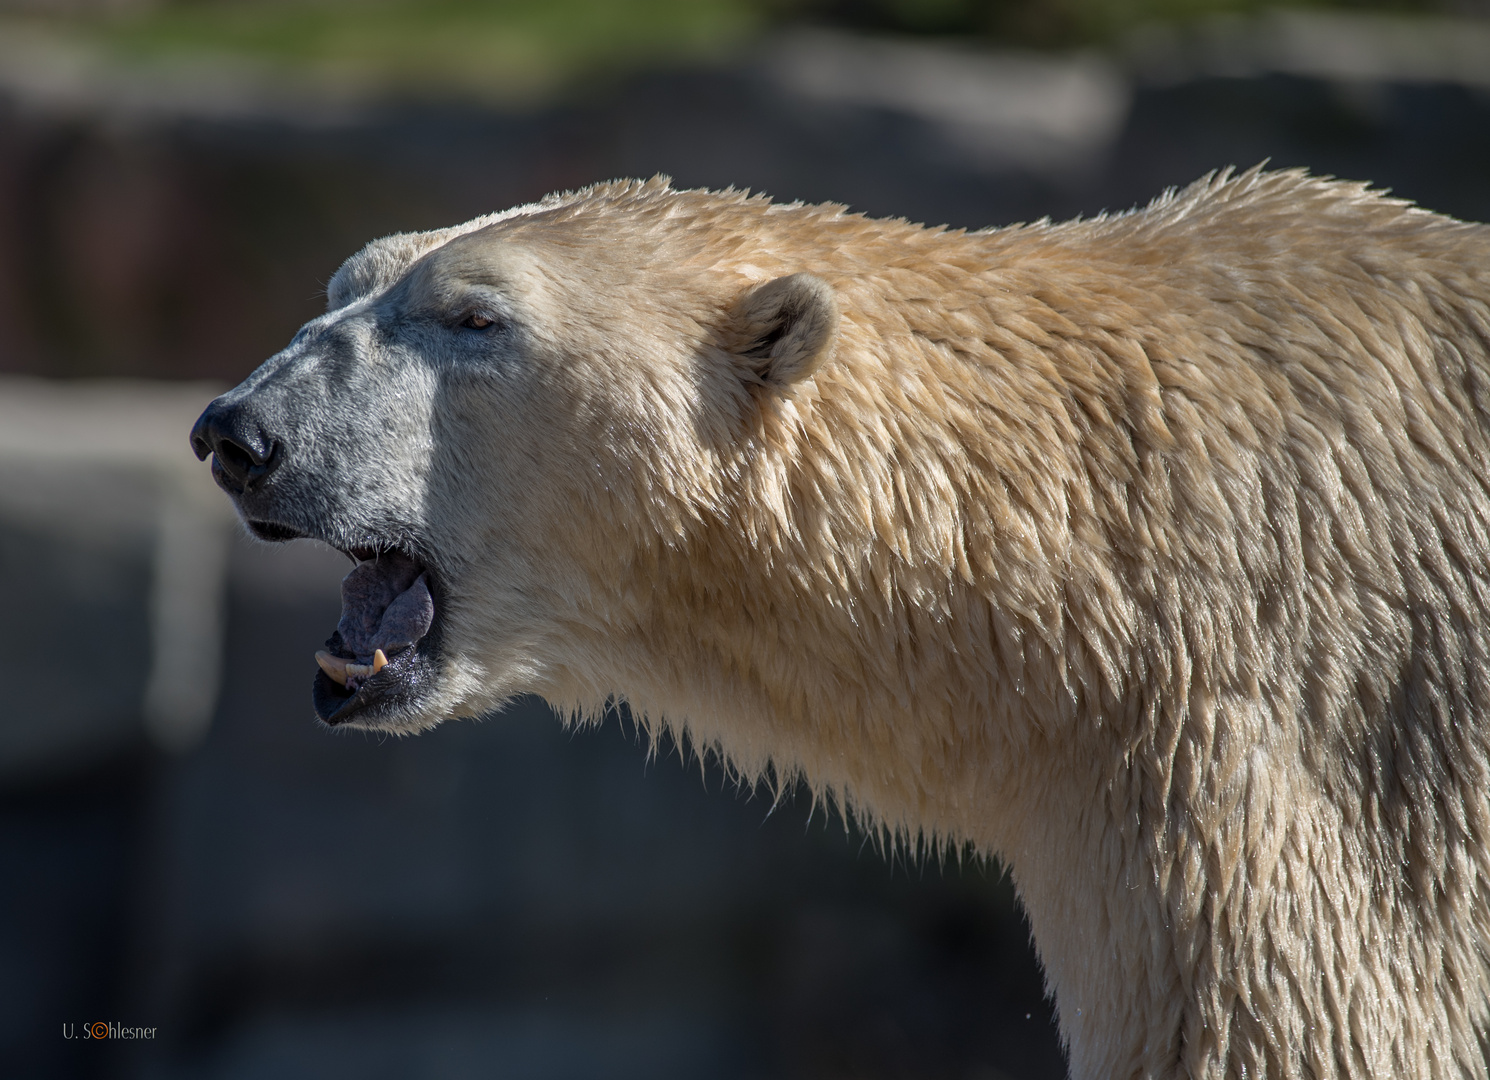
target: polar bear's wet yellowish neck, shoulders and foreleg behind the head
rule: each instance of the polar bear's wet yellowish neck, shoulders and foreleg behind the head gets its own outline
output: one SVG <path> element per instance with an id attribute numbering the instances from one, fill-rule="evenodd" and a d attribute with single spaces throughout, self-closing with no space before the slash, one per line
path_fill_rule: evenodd
<path id="1" fill-rule="evenodd" d="M 1003 857 L 1079 1079 L 1486 1076 L 1487 231 L 1295 174 L 964 240 L 811 267 L 833 363 L 657 466 L 730 481 L 550 696 Z"/>

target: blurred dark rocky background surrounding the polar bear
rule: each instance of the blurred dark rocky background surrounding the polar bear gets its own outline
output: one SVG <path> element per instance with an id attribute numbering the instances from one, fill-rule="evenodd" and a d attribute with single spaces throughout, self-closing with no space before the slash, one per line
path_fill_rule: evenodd
<path id="1" fill-rule="evenodd" d="M 367 240 L 617 176 L 979 228 L 1269 159 L 1486 220 L 1487 15 L 0 0 L 0 1071 L 1062 1076 L 997 865 L 624 718 L 317 727 L 346 563 L 186 431 Z"/>

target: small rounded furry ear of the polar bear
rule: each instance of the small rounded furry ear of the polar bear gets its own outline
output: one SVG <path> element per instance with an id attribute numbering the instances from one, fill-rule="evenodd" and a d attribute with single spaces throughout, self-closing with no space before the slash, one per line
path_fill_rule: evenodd
<path id="1" fill-rule="evenodd" d="M 752 381 L 791 386 L 820 366 L 837 335 L 833 288 L 790 274 L 748 289 L 730 304 L 727 346 Z"/>

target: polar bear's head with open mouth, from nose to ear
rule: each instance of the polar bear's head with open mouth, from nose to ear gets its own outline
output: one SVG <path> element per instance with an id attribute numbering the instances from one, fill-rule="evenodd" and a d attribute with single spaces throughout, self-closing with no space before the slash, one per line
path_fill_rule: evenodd
<path id="1" fill-rule="evenodd" d="M 779 210 L 627 182 L 374 241 L 212 402 L 192 445 L 247 529 L 358 563 L 322 720 L 615 688 L 596 651 L 635 635 L 657 551 L 726 508 L 761 411 L 833 350 L 833 289 L 749 240 Z"/>

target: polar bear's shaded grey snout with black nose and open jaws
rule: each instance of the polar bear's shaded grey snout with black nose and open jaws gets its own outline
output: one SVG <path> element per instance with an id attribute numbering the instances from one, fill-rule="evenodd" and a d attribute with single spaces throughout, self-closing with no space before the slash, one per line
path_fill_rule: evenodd
<path id="1" fill-rule="evenodd" d="M 316 715 L 329 725 L 419 730 L 432 722 L 441 682 L 444 596 L 420 517 L 422 472 L 399 465 L 428 428 L 422 369 L 389 375 L 386 358 L 370 359 L 349 337 L 299 335 L 207 405 L 191 445 L 212 459 L 250 535 L 319 541 L 355 565 L 341 618 L 314 654 Z"/>

